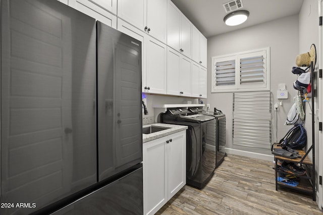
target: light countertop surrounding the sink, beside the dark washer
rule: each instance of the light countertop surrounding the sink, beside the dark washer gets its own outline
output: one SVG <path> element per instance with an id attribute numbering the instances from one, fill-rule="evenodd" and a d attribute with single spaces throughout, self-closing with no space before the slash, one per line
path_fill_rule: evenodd
<path id="1" fill-rule="evenodd" d="M 149 133 L 149 134 L 142 134 L 142 143 L 151 141 L 153 139 L 158 139 L 163 136 L 170 135 L 172 133 L 176 133 L 182 130 L 186 130 L 188 127 L 185 125 L 173 125 L 173 124 L 166 124 L 166 123 L 153 123 L 149 125 L 143 125 L 142 127 L 149 127 L 150 125 L 156 125 L 156 126 L 161 126 L 161 127 L 170 127 L 169 129 L 157 131 L 154 133 Z"/>

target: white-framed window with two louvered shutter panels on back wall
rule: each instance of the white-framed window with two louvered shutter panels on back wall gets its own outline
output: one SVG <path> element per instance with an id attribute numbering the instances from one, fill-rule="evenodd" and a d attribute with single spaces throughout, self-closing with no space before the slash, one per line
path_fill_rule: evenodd
<path id="1" fill-rule="evenodd" d="M 270 48 L 212 57 L 212 93 L 270 90 Z"/>

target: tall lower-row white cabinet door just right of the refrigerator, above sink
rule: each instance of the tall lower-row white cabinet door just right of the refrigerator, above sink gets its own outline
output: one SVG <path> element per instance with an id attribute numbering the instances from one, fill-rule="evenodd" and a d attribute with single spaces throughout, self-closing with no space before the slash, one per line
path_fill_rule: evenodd
<path id="1" fill-rule="evenodd" d="M 147 36 L 145 40 L 147 56 L 146 86 L 149 93 L 167 93 L 167 48 L 164 43 Z"/>

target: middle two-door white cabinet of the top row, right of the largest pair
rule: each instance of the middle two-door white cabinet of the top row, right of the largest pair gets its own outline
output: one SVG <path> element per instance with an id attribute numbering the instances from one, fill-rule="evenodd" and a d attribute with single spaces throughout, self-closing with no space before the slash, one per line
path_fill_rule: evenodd
<path id="1" fill-rule="evenodd" d="M 167 9 L 167 45 L 191 58 L 192 23 L 169 0 Z"/>

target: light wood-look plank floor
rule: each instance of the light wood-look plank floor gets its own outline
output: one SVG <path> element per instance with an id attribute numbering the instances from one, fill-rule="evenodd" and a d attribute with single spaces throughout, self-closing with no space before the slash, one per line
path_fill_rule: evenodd
<path id="1" fill-rule="evenodd" d="M 276 191 L 273 167 L 228 155 L 202 190 L 185 185 L 156 214 L 323 214 L 311 196 Z"/>

